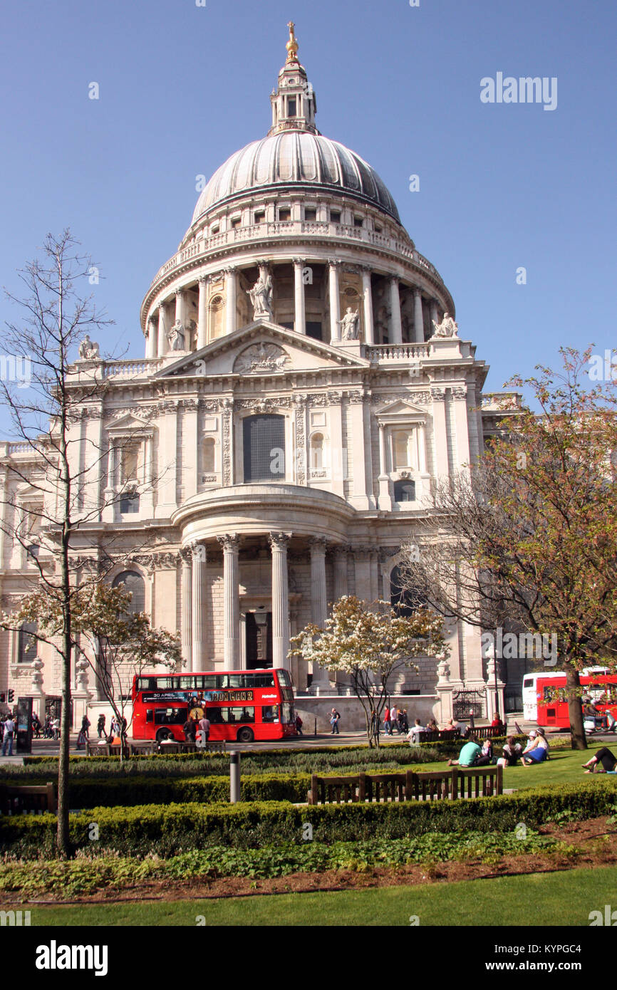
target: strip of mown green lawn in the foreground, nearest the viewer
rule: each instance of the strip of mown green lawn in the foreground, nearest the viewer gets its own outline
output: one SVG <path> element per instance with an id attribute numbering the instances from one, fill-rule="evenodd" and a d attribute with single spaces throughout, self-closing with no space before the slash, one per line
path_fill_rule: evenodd
<path id="1" fill-rule="evenodd" d="M 588 926 L 589 912 L 617 902 L 617 867 L 360 891 L 206 901 L 31 908 L 38 926 Z M 203 922 L 202 922 L 203 924 Z"/>

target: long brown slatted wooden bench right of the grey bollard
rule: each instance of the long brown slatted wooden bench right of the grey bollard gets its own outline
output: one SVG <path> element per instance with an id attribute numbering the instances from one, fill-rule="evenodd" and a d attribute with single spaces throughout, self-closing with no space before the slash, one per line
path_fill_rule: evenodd
<path id="1" fill-rule="evenodd" d="M 440 801 L 503 794 L 501 766 L 463 767 L 433 772 L 359 773 L 345 777 L 311 775 L 307 800 L 317 804 L 380 801 Z"/>

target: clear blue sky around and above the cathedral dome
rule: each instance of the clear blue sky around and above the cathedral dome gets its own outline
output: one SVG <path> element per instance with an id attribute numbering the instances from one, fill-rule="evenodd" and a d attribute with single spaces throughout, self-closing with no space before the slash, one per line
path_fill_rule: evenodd
<path id="1" fill-rule="evenodd" d="M 15 289 L 46 233 L 70 227 L 116 321 L 102 349 L 142 356 L 139 307 L 189 226 L 195 176 L 269 127 L 289 20 L 320 131 L 384 179 L 490 364 L 486 387 L 555 364 L 560 345 L 613 347 L 608 0 L 5 4 L 0 283 Z M 497 72 L 557 76 L 557 109 L 481 103 L 480 79 Z"/>

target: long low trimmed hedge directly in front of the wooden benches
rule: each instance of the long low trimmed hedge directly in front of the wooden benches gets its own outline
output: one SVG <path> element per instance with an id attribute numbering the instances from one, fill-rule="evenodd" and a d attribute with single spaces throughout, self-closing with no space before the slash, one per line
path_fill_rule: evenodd
<path id="1" fill-rule="evenodd" d="M 509 832 L 519 823 L 536 829 L 568 812 L 578 819 L 613 812 L 613 781 L 582 781 L 492 798 L 459 801 L 347 804 L 297 808 L 285 802 L 237 805 L 169 804 L 135 808 L 94 808 L 70 817 L 74 848 L 113 849 L 121 854 L 170 856 L 211 845 L 258 848 L 276 842 L 302 841 L 310 823 L 313 839 L 363 841 L 404 839 L 425 833 Z M 98 837 L 91 839 L 91 824 Z M 52 815 L 0 818 L 0 843 L 19 857 L 52 854 L 56 819 Z M 96 843 L 96 844 L 95 844 Z"/>

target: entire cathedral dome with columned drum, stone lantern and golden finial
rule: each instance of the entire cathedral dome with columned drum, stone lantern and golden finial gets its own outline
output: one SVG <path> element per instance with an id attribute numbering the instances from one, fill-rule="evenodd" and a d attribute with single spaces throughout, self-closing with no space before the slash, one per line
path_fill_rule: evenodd
<path id="1" fill-rule="evenodd" d="M 160 268 L 146 296 L 148 358 L 199 350 L 234 333 L 243 316 L 250 323 L 243 290 L 249 291 L 247 276 L 255 277 L 256 270 L 271 275 L 273 303 L 280 309 L 278 276 L 286 277 L 289 265 L 293 311 L 286 307 L 291 319 L 283 325 L 296 333 L 307 333 L 305 286 L 313 284 L 315 266 L 323 269 L 318 322 L 329 313 L 320 339 L 331 343 L 341 340 L 342 269 L 360 276 L 343 300 L 358 307 L 364 344 L 422 344 L 432 337 L 433 322 L 446 311 L 455 314 L 439 272 L 416 250 L 374 169 L 317 131 L 315 94 L 289 27 L 287 61 L 270 97 L 268 136 L 217 169 L 178 252 Z M 181 330 L 179 342 L 172 326 Z"/>

